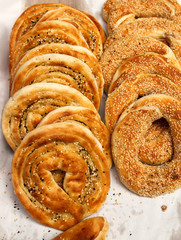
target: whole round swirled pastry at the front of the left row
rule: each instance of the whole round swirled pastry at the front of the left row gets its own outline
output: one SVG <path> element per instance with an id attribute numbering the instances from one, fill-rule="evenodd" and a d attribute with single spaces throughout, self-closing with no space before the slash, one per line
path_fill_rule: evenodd
<path id="1" fill-rule="evenodd" d="M 36 128 L 23 139 L 13 157 L 12 181 L 34 219 L 66 230 L 100 209 L 110 172 L 91 131 L 64 122 Z"/>

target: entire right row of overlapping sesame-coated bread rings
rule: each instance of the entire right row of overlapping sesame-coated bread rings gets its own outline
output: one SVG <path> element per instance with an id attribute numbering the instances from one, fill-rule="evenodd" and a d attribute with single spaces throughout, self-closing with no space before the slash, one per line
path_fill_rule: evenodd
<path id="1" fill-rule="evenodd" d="M 154 197 L 181 187 L 181 6 L 107 0 L 100 64 L 105 122 L 121 182 Z"/>

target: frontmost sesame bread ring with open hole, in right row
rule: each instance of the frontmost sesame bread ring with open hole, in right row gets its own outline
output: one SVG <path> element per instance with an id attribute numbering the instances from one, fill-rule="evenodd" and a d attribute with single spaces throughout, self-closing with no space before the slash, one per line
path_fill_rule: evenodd
<path id="1" fill-rule="evenodd" d="M 143 137 L 160 118 L 169 124 L 173 155 L 164 164 L 142 163 L 138 157 Z M 120 117 L 112 135 L 112 153 L 121 182 L 131 191 L 155 197 L 181 187 L 181 102 L 167 95 L 149 95 L 136 101 Z"/>

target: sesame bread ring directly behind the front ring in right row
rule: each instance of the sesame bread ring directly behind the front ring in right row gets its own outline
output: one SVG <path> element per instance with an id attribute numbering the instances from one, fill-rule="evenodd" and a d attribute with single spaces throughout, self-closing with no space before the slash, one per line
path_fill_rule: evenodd
<path id="1" fill-rule="evenodd" d="M 123 111 L 139 97 L 149 94 L 167 94 L 181 100 L 181 87 L 168 78 L 155 74 L 140 74 L 125 80 L 109 94 L 105 106 L 105 122 L 110 133 L 113 132 Z"/>

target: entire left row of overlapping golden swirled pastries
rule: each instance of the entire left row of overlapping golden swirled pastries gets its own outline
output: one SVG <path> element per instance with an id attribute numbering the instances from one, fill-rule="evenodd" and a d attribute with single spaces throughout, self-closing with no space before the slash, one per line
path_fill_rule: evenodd
<path id="1" fill-rule="evenodd" d="M 109 132 L 98 114 L 105 39 L 95 18 L 63 4 L 28 8 L 11 33 L 2 130 L 15 151 L 14 190 L 32 217 L 60 230 L 97 212 L 109 191 Z"/>

